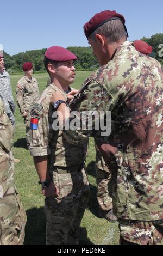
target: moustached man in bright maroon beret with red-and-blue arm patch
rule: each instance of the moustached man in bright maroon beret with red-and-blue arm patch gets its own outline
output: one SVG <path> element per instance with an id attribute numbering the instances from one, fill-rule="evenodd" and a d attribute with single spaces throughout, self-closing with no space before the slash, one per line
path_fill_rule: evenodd
<path id="1" fill-rule="evenodd" d="M 68 143 L 62 131 L 55 129 L 55 114 L 60 103 L 66 104 L 69 85 L 74 82 L 77 57 L 59 46 L 45 52 L 44 64 L 52 83 L 32 106 L 30 154 L 39 174 L 45 199 L 46 244 L 78 245 L 78 229 L 89 199 L 85 172 L 87 139 Z M 50 104 L 53 93 L 61 92 L 64 101 Z"/>

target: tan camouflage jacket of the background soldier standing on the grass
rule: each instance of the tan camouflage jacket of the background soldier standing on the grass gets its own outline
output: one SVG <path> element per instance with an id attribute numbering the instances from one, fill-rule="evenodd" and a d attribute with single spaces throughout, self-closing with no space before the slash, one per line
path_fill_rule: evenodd
<path id="1" fill-rule="evenodd" d="M 20 108 L 20 112 L 23 114 L 25 111 L 30 114 L 30 106 L 33 105 L 39 99 L 39 84 L 37 80 L 32 77 L 29 80 L 25 76 L 17 83 L 16 88 L 16 101 Z"/>

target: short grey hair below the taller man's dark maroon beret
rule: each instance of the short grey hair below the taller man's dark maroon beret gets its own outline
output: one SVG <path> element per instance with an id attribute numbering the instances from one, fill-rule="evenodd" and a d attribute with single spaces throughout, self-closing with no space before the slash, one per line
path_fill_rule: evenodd
<path id="1" fill-rule="evenodd" d="M 127 40 L 127 34 L 121 20 L 112 20 L 98 27 L 90 36 L 91 40 L 96 40 L 96 34 L 104 35 L 108 42 L 118 42 L 121 39 Z"/>

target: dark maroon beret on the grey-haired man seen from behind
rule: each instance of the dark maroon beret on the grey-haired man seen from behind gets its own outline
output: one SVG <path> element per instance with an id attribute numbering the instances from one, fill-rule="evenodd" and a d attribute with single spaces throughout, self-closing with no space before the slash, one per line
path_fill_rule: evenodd
<path id="1" fill-rule="evenodd" d="M 110 11 L 110 10 L 106 10 L 106 11 L 101 11 L 101 13 L 97 13 L 95 14 L 90 20 L 89 22 L 85 23 L 84 25 L 84 33 L 85 36 L 87 38 L 89 38 L 89 36 L 100 26 L 102 26 L 105 22 L 108 21 L 112 21 L 112 20 L 121 20 L 124 26 L 124 29 L 126 30 L 126 34 L 128 36 L 127 33 L 127 29 L 125 24 L 125 19 L 121 14 L 116 13 L 116 11 Z"/>

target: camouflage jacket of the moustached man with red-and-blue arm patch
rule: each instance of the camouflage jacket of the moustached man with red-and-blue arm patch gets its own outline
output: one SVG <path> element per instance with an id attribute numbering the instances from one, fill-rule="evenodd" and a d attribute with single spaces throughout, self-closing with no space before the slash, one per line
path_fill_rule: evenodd
<path id="1" fill-rule="evenodd" d="M 53 106 L 50 99 L 54 92 L 59 90 L 54 84 L 48 86 L 40 96 L 39 101 L 32 106 L 32 118 L 37 120 L 36 130 L 30 130 L 30 154 L 32 156 L 48 155 L 48 163 L 52 166 L 70 167 L 79 166 L 85 161 L 87 140 L 78 145 L 66 141 L 62 131 L 53 130 Z M 66 93 L 63 92 L 64 95 Z"/>

